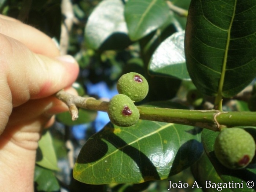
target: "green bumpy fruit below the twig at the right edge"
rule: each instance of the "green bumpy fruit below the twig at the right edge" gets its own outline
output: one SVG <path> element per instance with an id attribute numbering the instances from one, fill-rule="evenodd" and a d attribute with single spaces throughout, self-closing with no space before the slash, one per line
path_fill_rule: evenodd
<path id="1" fill-rule="evenodd" d="M 214 144 L 217 159 L 230 169 L 246 167 L 255 155 L 255 148 L 253 137 L 241 128 L 223 129 Z"/>

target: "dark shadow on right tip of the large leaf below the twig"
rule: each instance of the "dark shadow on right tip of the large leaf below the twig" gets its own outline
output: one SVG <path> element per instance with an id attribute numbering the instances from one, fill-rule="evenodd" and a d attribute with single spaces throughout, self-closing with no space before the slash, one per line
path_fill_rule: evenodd
<path id="1" fill-rule="evenodd" d="M 172 163 L 169 176 L 175 175 L 195 163 L 204 152 L 202 143 L 191 139 L 180 146 Z"/>

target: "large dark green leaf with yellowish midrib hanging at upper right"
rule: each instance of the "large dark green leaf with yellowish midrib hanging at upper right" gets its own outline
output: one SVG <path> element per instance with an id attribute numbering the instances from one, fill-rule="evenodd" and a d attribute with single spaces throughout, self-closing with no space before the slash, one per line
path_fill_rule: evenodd
<path id="1" fill-rule="evenodd" d="M 185 55 L 194 84 L 230 97 L 256 76 L 256 0 L 192 0 Z"/>

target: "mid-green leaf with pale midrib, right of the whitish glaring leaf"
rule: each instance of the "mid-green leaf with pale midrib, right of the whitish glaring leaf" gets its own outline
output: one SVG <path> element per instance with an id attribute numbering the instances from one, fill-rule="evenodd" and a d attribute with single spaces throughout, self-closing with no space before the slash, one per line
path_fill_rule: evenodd
<path id="1" fill-rule="evenodd" d="M 136 41 L 164 25 L 170 19 L 170 11 L 162 0 L 129 0 L 124 16 L 129 37 Z"/>

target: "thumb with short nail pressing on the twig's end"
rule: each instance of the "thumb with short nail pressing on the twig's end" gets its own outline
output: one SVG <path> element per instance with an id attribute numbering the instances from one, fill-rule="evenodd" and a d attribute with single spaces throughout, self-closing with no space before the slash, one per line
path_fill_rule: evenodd
<path id="1" fill-rule="evenodd" d="M 79 68 L 72 56 L 38 55 L 19 41 L 1 34 L 0 42 L 0 50 L 4 50 L 0 51 L 0 81 L 3 82 L 0 95 L 11 100 L 12 107 L 29 99 L 52 95 L 77 78 Z"/>

